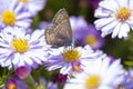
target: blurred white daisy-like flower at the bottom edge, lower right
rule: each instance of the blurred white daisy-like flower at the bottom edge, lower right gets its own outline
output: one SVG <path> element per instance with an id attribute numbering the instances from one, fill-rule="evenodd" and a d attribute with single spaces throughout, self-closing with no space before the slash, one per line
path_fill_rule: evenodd
<path id="1" fill-rule="evenodd" d="M 84 71 L 68 80 L 63 89 L 116 89 L 121 81 L 115 81 L 123 75 L 123 68 L 119 59 L 110 61 L 106 57 L 89 61 Z"/>

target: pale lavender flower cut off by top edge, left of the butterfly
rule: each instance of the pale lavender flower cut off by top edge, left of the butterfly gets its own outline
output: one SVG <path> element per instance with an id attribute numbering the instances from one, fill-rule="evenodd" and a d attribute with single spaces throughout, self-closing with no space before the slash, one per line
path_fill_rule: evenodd
<path id="1" fill-rule="evenodd" d="M 24 3 L 29 12 L 34 16 L 45 6 L 45 0 L 18 0 L 20 3 Z"/>

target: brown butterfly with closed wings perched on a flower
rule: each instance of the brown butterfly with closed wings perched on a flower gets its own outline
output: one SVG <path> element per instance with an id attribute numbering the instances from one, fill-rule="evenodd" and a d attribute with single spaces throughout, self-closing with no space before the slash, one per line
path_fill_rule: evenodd
<path id="1" fill-rule="evenodd" d="M 45 29 L 45 40 L 52 47 L 71 46 L 72 44 L 72 29 L 66 10 L 60 9 L 53 20 L 52 24 Z"/>

